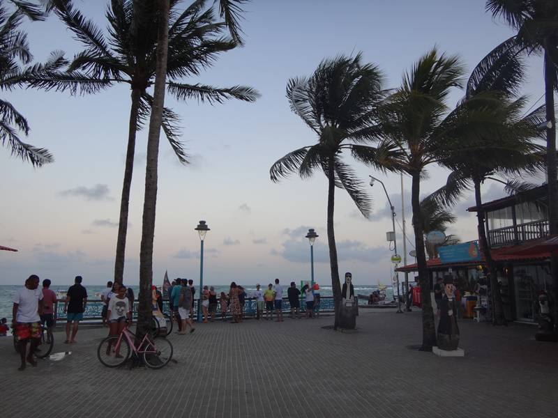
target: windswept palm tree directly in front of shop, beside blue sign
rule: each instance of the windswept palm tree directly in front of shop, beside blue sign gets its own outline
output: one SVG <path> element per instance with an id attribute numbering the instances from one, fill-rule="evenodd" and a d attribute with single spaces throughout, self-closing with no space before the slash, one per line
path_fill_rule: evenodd
<path id="1" fill-rule="evenodd" d="M 517 51 L 507 45 L 490 52 L 472 72 L 465 98 L 456 112 L 485 115 L 460 135 L 462 147 L 442 160 L 451 169 L 444 187 L 425 201 L 451 205 L 467 189 L 474 189 L 476 207 L 481 208 L 481 184 L 494 175 L 521 176 L 540 169 L 543 148 L 534 144 L 537 125 L 543 121 L 544 106 L 522 116 L 526 99 L 517 98 L 523 65 Z M 467 127 L 467 126 L 466 126 Z M 484 213 L 477 210 L 478 238 L 490 270 L 490 286 L 495 314 L 494 323 L 505 325 L 496 265 L 486 238 Z"/>

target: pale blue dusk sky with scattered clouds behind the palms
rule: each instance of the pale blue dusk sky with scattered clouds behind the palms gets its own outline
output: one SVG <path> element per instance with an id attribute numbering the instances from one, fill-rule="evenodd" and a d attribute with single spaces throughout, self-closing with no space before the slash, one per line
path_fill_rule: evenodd
<path id="1" fill-rule="evenodd" d="M 190 2 L 184 2 L 187 6 Z M 105 29 L 106 0 L 77 0 L 84 15 Z M 165 271 L 171 279 L 199 279 L 200 242 L 195 226 L 206 220 L 204 282 L 241 284 L 310 279 L 314 228 L 315 279 L 331 284 L 326 239 L 326 178 L 296 176 L 272 183 L 271 164 L 315 134 L 289 110 L 285 87 L 291 77 L 310 75 L 324 58 L 363 53 L 386 75 L 386 87 L 400 84 L 403 72 L 436 46 L 459 54 L 471 71 L 485 54 L 513 35 L 485 13 L 484 0 L 253 0 L 245 5 L 241 27 L 246 45 L 220 56 L 199 78 L 214 86 L 249 85 L 255 103 L 228 101 L 211 106 L 195 101 L 165 104 L 181 116 L 182 141 L 190 156 L 179 164 L 162 135 L 158 178 L 153 282 Z M 44 61 L 54 49 L 71 57 L 81 50 L 63 24 L 26 22 L 31 52 Z M 527 60 L 522 93 L 529 106 L 543 94 L 542 60 Z M 451 106 L 462 97 L 452 92 Z M 17 90 L 2 92 L 27 117 L 27 141 L 48 148 L 56 161 L 40 169 L 0 148 L 0 284 L 21 284 L 29 274 L 70 284 L 80 274 L 84 284 L 103 284 L 114 276 L 114 251 L 128 135 L 130 91 L 113 86 L 96 95 Z M 146 130 L 139 132 L 126 245 L 124 282 L 139 283 L 140 240 L 145 178 Z M 335 194 L 335 238 L 340 274 L 352 272 L 354 284 L 388 284 L 393 265 L 386 242 L 391 231 L 389 206 L 381 185 L 368 186 L 368 175 L 383 180 L 397 212 L 398 252 L 403 255 L 401 185 L 397 174 L 354 167 L 374 203 L 370 219 L 356 210 L 344 190 Z M 447 171 L 429 170 L 422 185 L 428 194 L 445 183 Z M 403 178 L 407 253 L 414 248 L 410 179 Z M 504 196 L 501 185 L 485 183 L 483 200 Z M 458 222 L 448 233 L 476 239 L 476 222 L 466 196 L 453 209 Z M 414 262 L 408 256 L 409 263 Z"/>

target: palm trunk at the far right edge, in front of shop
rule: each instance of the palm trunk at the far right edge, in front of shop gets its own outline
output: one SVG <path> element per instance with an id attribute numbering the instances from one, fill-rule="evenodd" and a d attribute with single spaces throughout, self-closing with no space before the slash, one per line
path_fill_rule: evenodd
<path id="1" fill-rule="evenodd" d="M 556 157 L 556 115 L 554 109 L 554 86 L 557 84 L 556 68 L 545 47 L 545 106 L 546 121 L 552 126 L 546 129 L 546 176 L 548 184 L 548 231 L 550 235 L 558 233 L 558 183 Z M 554 300 L 558 301 L 558 256 L 550 256 L 550 272 L 552 273 L 552 290 Z M 555 323 L 558 320 L 558 303 L 555 303 Z"/>

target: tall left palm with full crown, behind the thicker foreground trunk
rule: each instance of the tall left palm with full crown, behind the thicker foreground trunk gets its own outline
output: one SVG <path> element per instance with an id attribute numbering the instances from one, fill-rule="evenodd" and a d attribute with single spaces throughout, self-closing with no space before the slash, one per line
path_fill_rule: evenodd
<path id="1" fill-rule="evenodd" d="M 213 3 L 194 1 L 181 12 L 179 0 L 169 3 L 169 47 L 166 82 L 169 93 L 178 100 L 197 99 L 210 104 L 236 98 L 253 102 L 258 93 L 246 86 L 216 88 L 204 84 L 185 84 L 181 79 L 199 75 L 209 68 L 222 52 L 237 47 L 239 37 L 238 4 L 241 0 L 219 2 L 218 21 Z M 209 5 L 208 5 L 209 3 Z M 149 116 L 153 97 L 148 89 L 156 73 L 156 20 L 158 6 L 151 0 L 112 0 L 107 10 L 109 23 L 105 36 L 96 24 L 87 20 L 71 0 L 51 0 L 50 7 L 73 31 L 75 38 L 86 49 L 77 54 L 67 72 L 45 72 L 31 81 L 31 86 L 72 93 L 96 93 L 115 83 L 130 85 L 131 107 L 128 127 L 126 167 L 120 204 L 119 231 L 114 261 L 114 281 L 122 282 L 128 231 L 128 204 L 133 176 L 135 138 Z M 232 38 L 223 36 L 228 30 Z M 186 164 L 186 153 L 179 141 L 179 117 L 170 109 L 163 109 L 163 132 L 176 157 Z"/>

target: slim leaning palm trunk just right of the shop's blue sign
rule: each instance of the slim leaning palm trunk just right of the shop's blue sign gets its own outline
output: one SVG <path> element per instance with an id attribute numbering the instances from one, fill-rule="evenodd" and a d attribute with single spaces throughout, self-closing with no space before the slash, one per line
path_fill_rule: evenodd
<path id="1" fill-rule="evenodd" d="M 481 250 L 483 252 L 486 263 L 488 264 L 488 271 L 490 272 L 490 289 L 492 290 L 492 309 L 494 316 L 492 323 L 495 325 L 506 325 L 506 316 L 504 315 L 504 307 L 502 305 L 502 293 L 500 293 L 500 284 L 497 280 L 496 263 L 492 260 L 492 253 L 488 246 L 486 239 L 486 229 L 484 226 L 484 212 L 480 209 L 483 200 L 481 197 L 481 180 L 473 180 L 475 185 L 475 205 L 476 205 L 476 219 L 478 223 L 478 240 L 481 243 Z"/>

